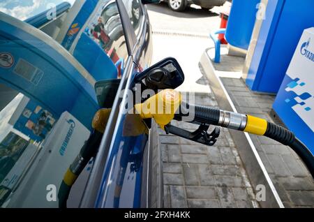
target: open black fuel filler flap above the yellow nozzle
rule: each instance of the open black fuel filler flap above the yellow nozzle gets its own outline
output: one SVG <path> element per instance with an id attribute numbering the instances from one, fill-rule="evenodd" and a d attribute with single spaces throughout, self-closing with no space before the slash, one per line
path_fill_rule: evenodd
<path id="1" fill-rule="evenodd" d="M 135 84 L 141 84 L 142 91 L 153 89 L 176 89 L 184 82 L 184 72 L 178 61 L 166 58 L 135 76 Z"/>

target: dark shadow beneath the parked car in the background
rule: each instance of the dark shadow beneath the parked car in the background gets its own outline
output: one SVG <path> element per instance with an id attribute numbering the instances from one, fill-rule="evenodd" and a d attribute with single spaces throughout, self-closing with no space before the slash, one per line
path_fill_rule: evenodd
<path id="1" fill-rule="evenodd" d="M 151 4 L 147 5 L 147 9 L 154 11 L 156 13 L 163 13 L 165 15 L 171 15 L 174 17 L 184 17 L 184 18 L 200 18 L 200 17 L 214 17 L 218 14 L 212 13 L 211 11 L 205 11 L 197 8 L 187 7 L 183 12 L 174 12 L 172 11 L 167 3 Z"/>

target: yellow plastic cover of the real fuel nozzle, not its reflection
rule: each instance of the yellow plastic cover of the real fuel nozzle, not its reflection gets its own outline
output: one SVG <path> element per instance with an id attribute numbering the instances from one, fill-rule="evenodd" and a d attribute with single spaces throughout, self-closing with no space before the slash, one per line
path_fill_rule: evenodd
<path id="1" fill-rule="evenodd" d="M 165 89 L 144 103 L 136 104 L 135 110 L 142 119 L 154 118 L 156 123 L 164 128 L 174 119 L 174 114 L 181 105 L 181 99 L 178 91 Z"/>

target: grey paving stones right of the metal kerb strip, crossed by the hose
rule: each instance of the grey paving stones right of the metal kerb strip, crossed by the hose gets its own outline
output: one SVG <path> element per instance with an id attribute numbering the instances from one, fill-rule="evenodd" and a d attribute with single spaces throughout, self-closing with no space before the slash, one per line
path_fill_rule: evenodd
<path id="1" fill-rule="evenodd" d="M 271 119 L 275 96 L 255 94 L 244 80 L 220 78 L 238 112 Z M 299 156 L 269 138 L 250 135 L 285 207 L 314 207 L 314 180 Z"/>

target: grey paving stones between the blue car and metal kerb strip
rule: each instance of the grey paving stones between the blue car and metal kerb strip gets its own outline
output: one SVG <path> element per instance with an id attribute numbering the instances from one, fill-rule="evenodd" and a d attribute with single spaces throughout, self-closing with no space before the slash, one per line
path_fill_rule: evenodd
<path id="1" fill-rule="evenodd" d="M 208 84 L 204 77 L 198 83 Z M 195 94 L 195 103 L 217 106 L 213 94 Z M 172 125 L 196 129 L 193 124 L 177 121 Z M 221 129 L 214 147 L 166 135 L 160 128 L 158 134 L 164 207 L 259 207 L 227 129 Z"/>

